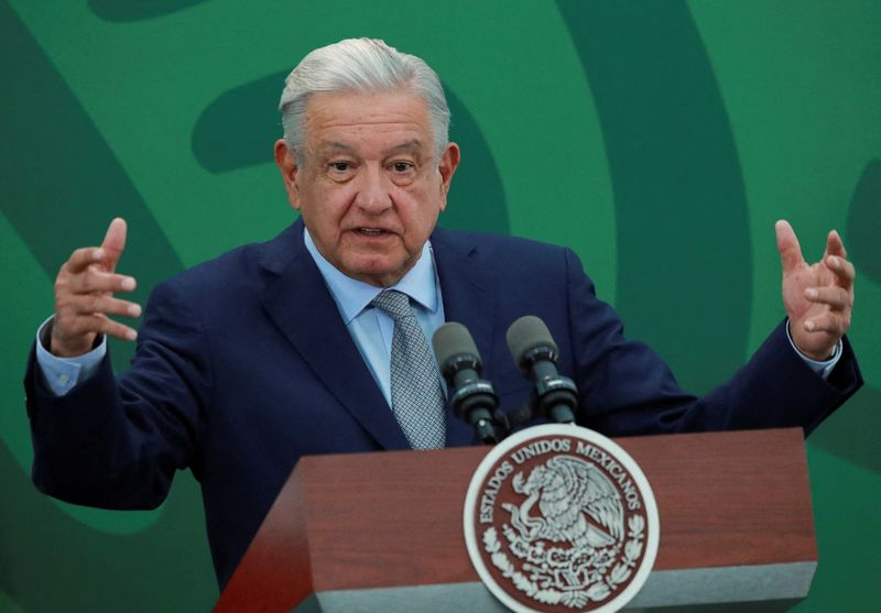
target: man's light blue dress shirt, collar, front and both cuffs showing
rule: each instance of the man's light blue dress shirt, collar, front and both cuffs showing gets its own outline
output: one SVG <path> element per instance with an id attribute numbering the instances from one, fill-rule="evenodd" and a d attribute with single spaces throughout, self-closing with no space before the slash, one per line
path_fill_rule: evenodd
<path id="1" fill-rule="evenodd" d="M 308 231 L 303 230 L 306 249 L 318 266 L 330 295 L 339 309 L 346 328 L 349 330 L 358 351 L 370 369 L 377 384 L 382 391 L 385 401 L 391 406 L 391 354 L 392 332 L 394 321 L 391 317 L 377 308 L 370 307 L 370 302 L 383 288 L 376 287 L 361 281 L 350 278 L 339 272 L 318 252 Z M 431 346 L 435 330 L 444 324 L 444 300 L 440 296 L 440 283 L 434 262 L 431 243 L 422 248 L 422 255 L 404 277 L 389 289 L 398 289 L 412 298 L 413 311 L 425 332 L 425 339 Z M 292 296 L 291 299 L 295 299 Z M 107 339 L 90 352 L 76 358 L 58 358 L 50 353 L 40 342 L 43 328 L 51 320 L 46 319 L 36 332 L 36 361 L 43 371 L 50 390 L 63 396 L 69 392 L 78 381 L 85 381 L 98 370 L 98 365 L 107 353 Z M 835 353 L 829 360 L 817 362 L 802 354 L 792 342 L 790 326 L 786 325 L 786 335 L 790 338 L 793 351 L 807 363 L 814 372 L 827 379 L 829 373 L 841 357 L 841 341 L 835 348 Z M 439 376 L 439 372 L 438 372 Z M 442 384 L 446 392 L 446 385 Z"/>

